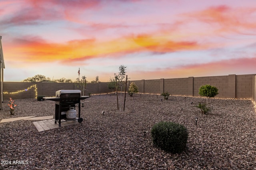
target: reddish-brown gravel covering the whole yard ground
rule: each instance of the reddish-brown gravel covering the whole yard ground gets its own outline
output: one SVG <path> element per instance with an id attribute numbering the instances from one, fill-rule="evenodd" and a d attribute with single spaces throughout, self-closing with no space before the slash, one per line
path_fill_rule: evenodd
<path id="1" fill-rule="evenodd" d="M 92 96 L 81 107 L 82 123 L 43 132 L 36 130 L 33 120 L 0 123 L 0 169 L 256 170 L 256 107 L 251 100 L 210 99 L 208 106 L 213 109 L 202 115 L 193 106 L 206 102 L 205 98 L 161 99 L 126 96 L 126 111 L 121 112 L 116 111 L 116 95 Z M 15 103 L 14 116 L 7 113 L 7 101 L 2 104 L 0 119 L 54 115 L 53 101 Z M 195 117 L 199 117 L 197 126 Z M 170 154 L 152 145 L 150 130 L 158 121 L 188 128 L 184 152 Z M 24 164 L 2 164 L 16 160 Z"/>

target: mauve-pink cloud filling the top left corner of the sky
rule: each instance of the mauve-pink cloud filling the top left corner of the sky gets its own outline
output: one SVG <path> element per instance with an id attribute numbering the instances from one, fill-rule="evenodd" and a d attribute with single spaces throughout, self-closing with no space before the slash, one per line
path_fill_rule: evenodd
<path id="1" fill-rule="evenodd" d="M 7 2 L 5 2 L 7 4 Z M 2 23 L 12 25 L 38 24 L 40 21 L 76 18 L 85 9 L 96 8 L 100 1 L 87 0 L 25 0 L 6 14 Z M 1 4 L 2 6 L 4 4 Z M 10 8 L 7 4 L 6 8 Z M 50 8 L 49 8 L 50 7 Z M 3 12 L 2 12 L 3 13 Z M 9 15 L 8 15 L 9 14 Z"/>

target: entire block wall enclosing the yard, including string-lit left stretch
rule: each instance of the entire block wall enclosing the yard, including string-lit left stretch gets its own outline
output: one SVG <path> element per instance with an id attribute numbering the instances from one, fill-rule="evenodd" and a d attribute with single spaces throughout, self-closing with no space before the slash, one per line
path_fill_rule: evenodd
<path id="1" fill-rule="evenodd" d="M 228 76 L 207 76 L 188 78 L 169 78 L 156 80 L 129 80 L 134 82 L 139 93 L 161 94 L 169 92 L 172 95 L 200 96 L 199 88 L 210 84 L 218 88 L 216 98 L 252 99 L 256 101 L 256 74 Z M 124 88 L 122 88 L 124 91 Z M 3 97 L 8 100 L 36 98 L 36 96 L 55 96 L 57 90 L 81 90 L 75 83 L 55 82 L 3 82 Z M 128 90 L 127 90 L 128 91 Z M 87 83 L 85 95 L 114 92 L 108 88 L 108 82 Z"/>

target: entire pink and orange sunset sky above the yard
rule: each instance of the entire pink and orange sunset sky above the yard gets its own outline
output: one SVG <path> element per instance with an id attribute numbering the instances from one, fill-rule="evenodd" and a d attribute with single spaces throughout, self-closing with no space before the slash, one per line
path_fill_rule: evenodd
<path id="1" fill-rule="evenodd" d="M 1 0 L 4 81 L 256 74 L 256 0 Z"/>

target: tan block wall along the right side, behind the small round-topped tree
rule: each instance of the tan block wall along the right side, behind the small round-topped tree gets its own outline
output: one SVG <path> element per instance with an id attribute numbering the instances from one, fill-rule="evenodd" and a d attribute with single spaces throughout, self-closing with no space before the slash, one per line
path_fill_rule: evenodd
<path id="1" fill-rule="evenodd" d="M 172 95 L 200 96 L 198 94 L 200 86 L 210 84 L 218 88 L 219 94 L 216 98 L 255 100 L 255 76 L 256 74 L 230 74 L 228 76 L 136 80 L 130 82 L 138 83 L 140 86 L 143 84 L 144 92 L 139 89 L 140 93 L 161 94 L 162 92 L 169 92 Z"/>

